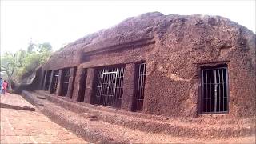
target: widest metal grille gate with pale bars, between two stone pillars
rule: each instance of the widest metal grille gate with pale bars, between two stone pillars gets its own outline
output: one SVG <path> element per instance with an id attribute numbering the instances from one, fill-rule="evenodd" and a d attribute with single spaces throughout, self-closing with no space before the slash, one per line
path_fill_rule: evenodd
<path id="1" fill-rule="evenodd" d="M 98 70 L 94 103 L 120 108 L 124 67 L 106 67 Z"/>

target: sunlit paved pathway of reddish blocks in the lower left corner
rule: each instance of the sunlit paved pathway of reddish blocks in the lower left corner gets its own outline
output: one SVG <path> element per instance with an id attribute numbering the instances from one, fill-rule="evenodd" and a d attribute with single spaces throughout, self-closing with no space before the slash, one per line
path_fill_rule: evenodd
<path id="1" fill-rule="evenodd" d="M 12 106 L 30 106 L 18 94 L 1 94 L 0 102 Z M 34 107 L 35 108 L 35 107 Z M 1 143 L 87 143 L 69 130 L 35 111 L 1 108 Z"/>

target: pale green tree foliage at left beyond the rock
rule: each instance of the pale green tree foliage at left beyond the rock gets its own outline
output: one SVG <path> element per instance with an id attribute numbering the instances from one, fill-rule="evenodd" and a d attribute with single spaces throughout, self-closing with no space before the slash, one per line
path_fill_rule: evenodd
<path id="1" fill-rule="evenodd" d="M 31 43 L 27 50 L 18 50 L 14 54 L 6 52 L 1 57 L 1 73 L 9 80 L 20 82 L 31 74 L 38 66 L 50 57 L 52 46 L 50 43 Z"/>

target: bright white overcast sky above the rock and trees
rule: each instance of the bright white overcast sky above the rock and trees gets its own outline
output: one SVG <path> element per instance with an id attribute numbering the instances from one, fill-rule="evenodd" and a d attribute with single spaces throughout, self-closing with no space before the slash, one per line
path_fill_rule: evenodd
<path id="1" fill-rule="evenodd" d="M 54 51 L 78 38 L 146 12 L 220 15 L 255 34 L 256 1 L 39 1 L 1 0 L 1 54 L 50 42 Z"/>

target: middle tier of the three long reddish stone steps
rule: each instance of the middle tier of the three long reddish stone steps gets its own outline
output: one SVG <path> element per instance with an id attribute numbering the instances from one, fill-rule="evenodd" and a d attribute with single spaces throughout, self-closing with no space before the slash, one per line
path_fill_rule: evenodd
<path id="1" fill-rule="evenodd" d="M 31 94 L 37 95 L 38 92 L 30 93 L 30 95 Z M 129 114 L 118 114 L 118 110 L 114 110 L 114 112 L 109 110 L 98 110 L 92 106 L 81 105 L 78 102 L 69 102 L 63 98 L 50 96 L 50 94 L 45 95 L 50 102 L 54 102 L 66 110 L 72 111 L 76 114 L 84 115 L 87 118 L 94 117 L 95 119 L 99 119 L 103 122 L 107 122 L 112 125 L 123 126 L 132 130 L 141 130 L 154 134 L 170 134 L 172 136 L 182 136 L 188 138 L 232 138 L 251 136 L 255 134 L 255 126 L 250 122 L 245 122 L 243 124 L 240 122 L 239 125 L 239 122 L 233 124 L 223 123 L 223 125 L 219 125 L 209 123 L 206 124 L 200 121 L 182 122 L 181 120 L 177 119 L 163 121 L 161 118 L 154 119 L 153 116 L 145 116 L 145 114 L 143 116 L 150 118 L 141 118 L 138 117 L 138 114 L 135 113 L 134 116 L 130 116 Z M 118 113 L 115 113 L 116 111 L 118 111 Z"/>

